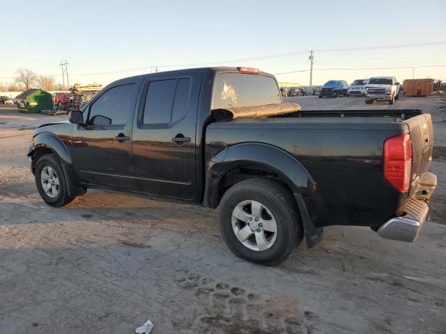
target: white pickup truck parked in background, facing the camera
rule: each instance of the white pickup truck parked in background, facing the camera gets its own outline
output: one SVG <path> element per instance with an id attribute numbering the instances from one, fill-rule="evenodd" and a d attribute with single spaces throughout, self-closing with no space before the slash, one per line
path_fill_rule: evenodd
<path id="1" fill-rule="evenodd" d="M 373 77 L 365 86 L 365 103 L 388 101 L 394 104 L 399 98 L 399 82 L 395 77 Z"/>

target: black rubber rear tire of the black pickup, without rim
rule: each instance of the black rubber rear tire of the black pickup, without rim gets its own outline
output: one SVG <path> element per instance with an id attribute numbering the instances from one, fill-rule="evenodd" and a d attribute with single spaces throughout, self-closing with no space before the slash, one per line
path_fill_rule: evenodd
<path id="1" fill-rule="evenodd" d="M 277 223 L 275 242 L 266 250 L 247 248 L 233 230 L 233 210 L 245 200 L 254 200 L 268 207 Z M 267 266 L 284 262 L 303 239 L 302 223 L 293 196 L 284 186 L 268 179 L 249 179 L 233 185 L 220 201 L 219 221 L 224 242 L 234 255 Z"/>

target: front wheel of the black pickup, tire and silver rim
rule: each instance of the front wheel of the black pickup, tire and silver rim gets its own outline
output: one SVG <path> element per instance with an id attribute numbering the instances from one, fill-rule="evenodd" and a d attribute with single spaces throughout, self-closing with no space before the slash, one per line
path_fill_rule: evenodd
<path id="1" fill-rule="evenodd" d="M 63 207 L 74 199 L 68 196 L 65 175 L 54 154 L 46 154 L 38 159 L 35 179 L 40 197 L 47 205 Z"/>

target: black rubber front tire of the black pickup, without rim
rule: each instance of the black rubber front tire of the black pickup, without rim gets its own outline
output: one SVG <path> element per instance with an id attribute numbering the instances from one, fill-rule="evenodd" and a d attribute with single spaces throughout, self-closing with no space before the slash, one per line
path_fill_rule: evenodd
<path id="1" fill-rule="evenodd" d="M 59 179 L 58 193 L 54 198 L 47 195 L 47 193 L 43 189 L 41 175 L 42 170 L 45 167 L 51 167 L 55 171 L 56 176 Z M 47 205 L 51 205 L 52 207 L 63 207 L 74 199 L 68 196 L 66 176 L 63 173 L 61 163 L 55 154 L 45 154 L 40 157 L 40 159 L 38 159 L 34 177 L 40 197 L 47 203 Z"/>

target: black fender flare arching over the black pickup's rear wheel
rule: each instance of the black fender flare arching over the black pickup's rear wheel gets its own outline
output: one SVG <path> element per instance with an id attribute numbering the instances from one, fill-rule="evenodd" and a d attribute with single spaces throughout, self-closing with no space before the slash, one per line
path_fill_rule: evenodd
<path id="1" fill-rule="evenodd" d="M 293 191 L 302 218 L 307 246 L 318 244 L 323 228 L 316 228 L 312 220 L 312 216 L 316 216 L 316 205 L 320 202 L 316 182 L 298 159 L 273 145 L 241 143 L 225 148 L 210 159 L 206 166 L 203 197 L 203 204 L 206 207 L 217 207 L 220 180 L 231 168 L 238 166 L 260 167 L 279 175 Z"/>

